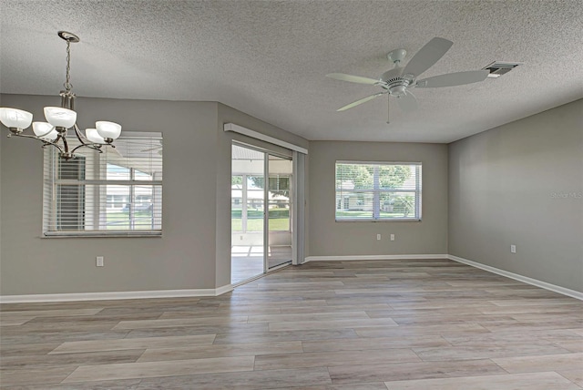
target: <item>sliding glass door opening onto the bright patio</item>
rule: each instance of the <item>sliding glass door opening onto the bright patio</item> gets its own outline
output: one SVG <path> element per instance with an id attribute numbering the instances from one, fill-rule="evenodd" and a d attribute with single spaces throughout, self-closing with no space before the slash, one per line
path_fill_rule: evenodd
<path id="1" fill-rule="evenodd" d="M 292 262 L 292 159 L 233 144 L 231 283 Z"/>

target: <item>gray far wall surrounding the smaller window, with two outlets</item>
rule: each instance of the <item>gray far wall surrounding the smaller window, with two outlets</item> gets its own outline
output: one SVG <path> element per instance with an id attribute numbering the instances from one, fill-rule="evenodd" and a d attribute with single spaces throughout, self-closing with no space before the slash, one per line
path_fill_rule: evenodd
<path id="1" fill-rule="evenodd" d="M 423 221 L 334 221 L 336 160 L 421 161 Z M 445 144 L 312 141 L 309 172 L 310 256 L 447 253 Z"/>

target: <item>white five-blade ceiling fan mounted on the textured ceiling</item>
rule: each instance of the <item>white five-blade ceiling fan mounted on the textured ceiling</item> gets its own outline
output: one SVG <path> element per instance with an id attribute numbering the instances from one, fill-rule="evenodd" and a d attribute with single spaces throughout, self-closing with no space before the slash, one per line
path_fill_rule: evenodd
<path id="1" fill-rule="evenodd" d="M 435 36 L 435 38 L 427 42 L 425 46 L 423 46 L 413 58 L 409 60 L 405 67 L 400 67 L 399 64 L 403 61 L 407 52 L 404 49 L 393 50 L 387 57 L 393 62 L 394 68 L 384 72 L 384 74 L 378 79 L 346 75 L 343 73 L 330 73 L 326 75 L 326 77 L 334 78 L 336 80 L 350 81 L 358 84 L 369 84 L 383 88 L 383 91 L 356 100 L 343 108 L 338 108 L 337 111 L 344 111 L 348 108 L 361 105 L 369 100 L 373 100 L 375 97 L 388 95 L 389 97 L 396 97 L 399 107 L 405 112 L 410 112 L 417 108 L 417 99 L 414 97 L 413 93 L 411 93 L 411 88 L 455 87 L 484 81 L 488 76 L 487 70 L 469 70 L 465 72 L 447 73 L 445 75 L 427 77 L 421 80 L 417 79 L 417 77 L 424 73 L 425 70 L 433 67 L 452 45 L 454 45 L 452 41 Z"/>

